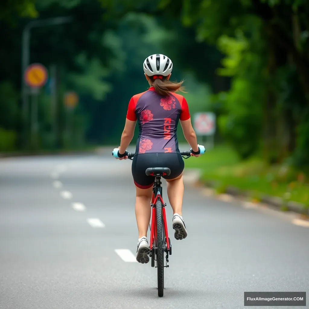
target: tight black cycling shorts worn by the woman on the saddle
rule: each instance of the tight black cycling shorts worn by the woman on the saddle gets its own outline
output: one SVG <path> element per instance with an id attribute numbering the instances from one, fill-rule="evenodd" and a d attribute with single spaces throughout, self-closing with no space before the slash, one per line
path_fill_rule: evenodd
<path id="1" fill-rule="evenodd" d="M 184 170 L 184 160 L 177 153 L 146 153 L 135 155 L 132 162 L 132 176 L 134 184 L 141 189 L 153 186 L 155 176 L 147 176 L 145 171 L 148 167 L 168 167 L 171 170 L 165 179 L 174 179 L 180 176 Z"/>

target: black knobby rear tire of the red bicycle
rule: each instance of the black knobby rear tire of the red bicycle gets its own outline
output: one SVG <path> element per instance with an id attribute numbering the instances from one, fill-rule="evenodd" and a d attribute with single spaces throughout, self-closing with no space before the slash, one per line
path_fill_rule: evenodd
<path id="1" fill-rule="evenodd" d="M 158 270 L 158 296 L 163 296 L 164 289 L 164 263 L 163 263 L 163 226 L 162 226 L 162 203 L 158 199 L 156 204 L 157 214 L 157 270 Z"/>

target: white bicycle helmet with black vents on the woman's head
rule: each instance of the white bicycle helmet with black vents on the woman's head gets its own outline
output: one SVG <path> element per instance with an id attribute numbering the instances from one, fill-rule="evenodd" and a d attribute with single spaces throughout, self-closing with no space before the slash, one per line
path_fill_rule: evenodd
<path id="1" fill-rule="evenodd" d="M 143 68 L 144 72 L 148 76 L 167 76 L 171 73 L 173 69 L 173 64 L 170 58 L 162 54 L 154 54 L 145 59 Z"/>

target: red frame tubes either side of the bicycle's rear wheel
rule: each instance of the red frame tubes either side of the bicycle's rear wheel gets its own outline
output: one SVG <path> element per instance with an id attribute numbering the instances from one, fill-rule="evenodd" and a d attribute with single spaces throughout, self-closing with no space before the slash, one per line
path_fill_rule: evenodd
<path id="1" fill-rule="evenodd" d="M 152 215 L 151 215 L 151 227 L 150 227 L 150 250 L 153 248 L 153 244 L 157 244 L 157 214 L 156 214 L 156 202 L 158 198 L 161 200 L 162 204 L 162 217 L 163 217 L 163 229 L 164 236 L 166 241 L 167 250 L 170 249 L 170 244 L 168 241 L 168 231 L 167 231 L 167 222 L 166 222 L 166 213 L 165 213 L 165 204 L 161 197 L 161 194 L 158 192 L 155 196 L 155 188 L 152 193 L 151 204 L 152 204 Z"/>

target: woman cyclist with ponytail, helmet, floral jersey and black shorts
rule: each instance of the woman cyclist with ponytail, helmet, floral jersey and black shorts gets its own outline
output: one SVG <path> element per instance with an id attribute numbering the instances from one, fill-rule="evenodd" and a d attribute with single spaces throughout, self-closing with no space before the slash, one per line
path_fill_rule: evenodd
<path id="1" fill-rule="evenodd" d="M 121 143 L 117 159 L 127 159 L 126 148 L 129 146 L 138 121 L 139 136 L 136 143 L 135 156 L 132 162 L 132 175 L 136 187 L 135 215 L 138 226 L 138 248 L 136 259 L 140 263 L 148 263 L 147 230 L 150 222 L 150 200 L 155 176 L 146 176 L 148 167 L 168 167 L 167 196 L 173 209 L 173 229 L 176 239 L 187 237 L 187 230 L 182 218 L 182 199 L 184 195 L 183 170 L 184 161 L 179 153 L 177 141 L 177 125 L 180 120 L 184 137 L 191 146 L 191 155 L 198 157 L 200 148 L 192 128 L 188 104 L 182 95 L 180 83 L 169 81 L 173 64 L 162 55 L 154 54 L 144 61 L 144 72 L 150 88 L 134 95 L 129 102 L 125 128 L 121 135 Z"/>

